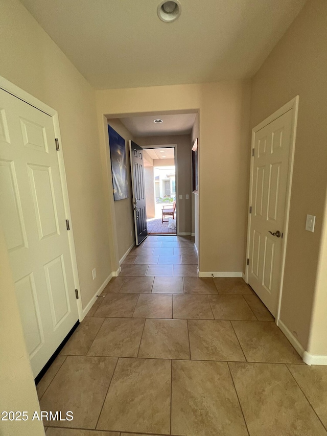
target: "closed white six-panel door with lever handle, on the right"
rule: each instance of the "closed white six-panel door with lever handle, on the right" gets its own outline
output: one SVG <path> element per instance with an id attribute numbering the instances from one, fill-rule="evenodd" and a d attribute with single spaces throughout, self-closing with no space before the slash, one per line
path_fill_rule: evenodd
<path id="1" fill-rule="evenodd" d="M 254 134 L 248 283 L 276 316 L 292 132 L 292 110 Z"/>

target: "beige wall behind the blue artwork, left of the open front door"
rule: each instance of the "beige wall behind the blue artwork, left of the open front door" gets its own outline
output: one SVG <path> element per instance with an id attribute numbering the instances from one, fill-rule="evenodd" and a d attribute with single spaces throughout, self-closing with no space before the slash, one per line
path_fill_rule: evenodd
<path id="1" fill-rule="evenodd" d="M 108 124 L 125 139 L 125 150 L 126 150 L 126 166 L 128 174 L 128 198 L 119 201 L 113 201 L 113 191 L 112 191 L 112 175 L 111 175 L 111 164 L 110 164 L 110 153 L 107 154 L 107 168 L 109 176 L 111 178 L 111 185 L 109 185 L 109 193 L 111 196 L 111 201 L 113 203 L 113 211 L 115 214 L 115 235 L 118 244 L 118 256 L 119 260 L 125 255 L 126 251 L 135 241 L 134 233 L 134 218 L 133 218 L 133 206 L 132 206 L 132 193 L 131 193 L 131 175 L 130 175 L 130 157 L 129 157 L 129 140 L 133 140 L 133 136 L 129 130 L 124 126 L 124 124 L 118 119 L 108 120 Z M 109 149 L 107 149 L 109 151 Z M 108 186 L 105 186 L 108 189 Z M 110 219 L 110 218 L 109 218 Z"/>

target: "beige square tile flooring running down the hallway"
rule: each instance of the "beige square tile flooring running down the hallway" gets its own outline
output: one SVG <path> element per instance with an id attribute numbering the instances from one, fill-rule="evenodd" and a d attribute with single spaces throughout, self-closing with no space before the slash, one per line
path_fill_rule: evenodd
<path id="1" fill-rule="evenodd" d="M 302 363 L 242 279 L 197 278 L 193 243 L 171 238 L 133 249 L 39 382 L 41 410 L 74 412 L 46 436 L 326 436 L 327 367 Z"/>

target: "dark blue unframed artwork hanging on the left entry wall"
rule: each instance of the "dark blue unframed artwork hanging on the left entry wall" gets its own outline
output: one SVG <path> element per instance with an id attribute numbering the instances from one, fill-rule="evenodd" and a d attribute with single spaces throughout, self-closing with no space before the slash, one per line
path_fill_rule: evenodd
<path id="1" fill-rule="evenodd" d="M 125 140 L 108 125 L 114 201 L 128 198 Z"/>

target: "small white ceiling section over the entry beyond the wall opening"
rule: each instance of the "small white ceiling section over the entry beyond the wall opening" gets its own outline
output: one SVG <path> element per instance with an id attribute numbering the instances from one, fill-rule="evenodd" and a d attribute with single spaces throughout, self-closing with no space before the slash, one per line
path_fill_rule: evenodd
<path id="1" fill-rule="evenodd" d="M 162 136 L 191 133 L 195 117 L 195 113 L 181 113 L 120 118 L 120 120 L 134 136 Z M 153 122 L 157 119 L 162 120 L 162 123 Z"/>

